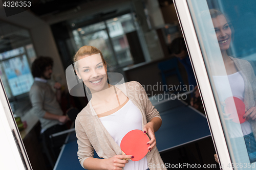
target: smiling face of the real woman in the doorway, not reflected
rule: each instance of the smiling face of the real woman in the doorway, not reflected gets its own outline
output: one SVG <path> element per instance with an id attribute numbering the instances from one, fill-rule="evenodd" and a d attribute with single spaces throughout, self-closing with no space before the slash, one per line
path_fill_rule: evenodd
<path id="1" fill-rule="evenodd" d="M 100 91 L 106 84 L 106 68 L 100 54 L 78 58 L 76 74 L 92 92 Z"/>

